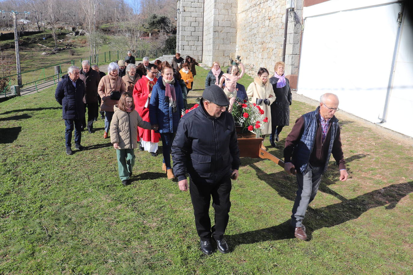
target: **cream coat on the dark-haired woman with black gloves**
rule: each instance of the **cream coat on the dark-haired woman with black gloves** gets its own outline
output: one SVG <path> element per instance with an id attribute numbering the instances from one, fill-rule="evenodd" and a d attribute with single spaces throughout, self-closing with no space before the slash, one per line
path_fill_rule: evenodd
<path id="1" fill-rule="evenodd" d="M 247 89 L 247 96 L 251 97 L 251 103 L 256 103 L 257 99 L 268 99 L 270 105 L 275 101 L 275 94 L 273 91 L 273 85 L 267 80 L 265 85 L 261 79 L 256 76 L 254 82 L 252 82 Z M 262 101 L 259 106 L 264 110 L 264 117 L 268 118 L 268 122 L 264 124 L 264 129 L 261 130 L 261 134 L 271 134 L 271 107 L 266 105 Z"/>

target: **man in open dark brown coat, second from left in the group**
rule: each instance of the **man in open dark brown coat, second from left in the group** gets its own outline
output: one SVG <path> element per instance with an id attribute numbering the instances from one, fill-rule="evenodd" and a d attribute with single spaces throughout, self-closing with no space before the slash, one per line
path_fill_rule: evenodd
<path id="1" fill-rule="evenodd" d="M 99 85 L 100 75 L 97 71 L 90 69 L 89 60 L 82 61 L 82 69 L 80 71 L 79 78 L 85 83 L 85 96 L 83 97 L 83 102 L 86 107 L 88 107 L 88 124 L 87 128 L 89 133 L 93 131 L 93 120 L 97 117 L 97 99 L 100 98 L 97 93 L 97 86 Z M 82 128 L 86 126 L 86 119 L 83 119 Z"/>

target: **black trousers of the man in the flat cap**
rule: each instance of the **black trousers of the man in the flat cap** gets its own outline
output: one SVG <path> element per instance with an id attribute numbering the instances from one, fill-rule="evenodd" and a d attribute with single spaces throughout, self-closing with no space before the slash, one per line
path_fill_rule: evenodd
<path id="1" fill-rule="evenodd" d="M 189 178 L 189 191 L 192 205 L 194 207 L 195 226 L 199 238 L 202 241 L 211 239 L 221 240 L 228 225 L 229 212 L 231 207 L 230 176 L 223 177 L 215 184 L 198 183 L 197 180 Z M 212 197 L 212 207 L 215 209 L 215 225 L 211 227 L 209 218 L 209 204 Z"/>

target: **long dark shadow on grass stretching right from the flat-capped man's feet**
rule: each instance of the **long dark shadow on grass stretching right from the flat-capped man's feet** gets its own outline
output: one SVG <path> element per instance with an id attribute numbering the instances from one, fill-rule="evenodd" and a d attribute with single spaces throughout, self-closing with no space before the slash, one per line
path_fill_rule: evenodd
<path id="1" fill-rule="evenodd" d="M 309 235 L 309 238 L 311 239 L 311 232 L 357 219 L 361 214 L 375 207 L 388 204 L 385 208 L 393 209 L 403 197 L 412 192 L 413 181 L 409 181 L 406 183 L 392 184 L 385 188 L 377 189 L 350 200 L 325 207 L 316 209 L 309 207 L 307 209 L 305 220 L 307 235 Z M 290 228 L 290 220 L 284 221 L 277 226 L 225 236 L 233 247 L 240 244 L 283 240 L 293 237 L 292 228 Z"/>

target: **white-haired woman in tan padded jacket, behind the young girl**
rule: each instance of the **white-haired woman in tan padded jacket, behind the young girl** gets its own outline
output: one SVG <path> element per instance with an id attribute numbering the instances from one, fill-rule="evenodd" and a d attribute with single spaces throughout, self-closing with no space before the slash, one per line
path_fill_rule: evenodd
<path id="1" fill-rule="evenodd" d="M 119 66 L 116 62 L 112 62 L 107 67 L 107 75 L 102 77 L 97 86 L 97 93 L 102 98 L 100 110 L 104 111 L 104 134 L 103 138 L 107 138 L 109 132 L 110 122 L 114 113 L 113 106 L 118 103 L 117 100 L 110 98 L 111 92 L 120 92 L 121 94 L 126 92 L 126 85 L 122 78 L 119 76 Z"/>

